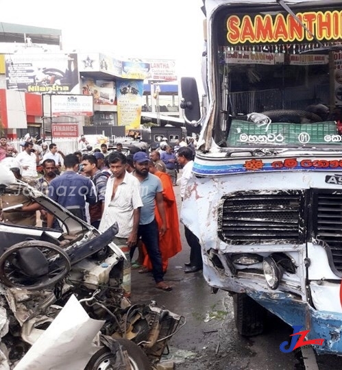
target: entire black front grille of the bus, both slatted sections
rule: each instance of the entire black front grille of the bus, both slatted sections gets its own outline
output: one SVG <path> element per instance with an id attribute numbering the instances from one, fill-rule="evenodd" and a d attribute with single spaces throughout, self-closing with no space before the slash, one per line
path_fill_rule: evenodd
<path id="1" fill-rule="evenodd" d="M 342 277 L 342 190 L 236 192 L 221 199 L 218 230 L 231 245 L 320 243 Z"/>

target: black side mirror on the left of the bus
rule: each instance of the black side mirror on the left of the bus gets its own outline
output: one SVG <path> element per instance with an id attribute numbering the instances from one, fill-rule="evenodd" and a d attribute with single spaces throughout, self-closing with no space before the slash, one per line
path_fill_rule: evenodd
<path id="1" fill-rule="evenodd" d="M 181 77 L 180 87 L 182 90 L 180 108 L 183 110 L 184 120 L 189 125 L 197 127 L 201 123 L 201 110 L 195 78 Z"/>

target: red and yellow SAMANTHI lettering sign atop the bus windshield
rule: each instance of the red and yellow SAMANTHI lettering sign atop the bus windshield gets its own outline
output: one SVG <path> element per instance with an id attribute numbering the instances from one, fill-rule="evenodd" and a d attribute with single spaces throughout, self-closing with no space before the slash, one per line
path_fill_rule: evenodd
<path id="1" fill-rule="evenodd" d="M 312 10 L 296 15 L 310 32 L 290 14 L 231 15 L 225 24 L 226 40 L 230 45 L 300 43 L 315 41 L 315 35 L 320 41 L 341 41 L 342 10 Z"/>

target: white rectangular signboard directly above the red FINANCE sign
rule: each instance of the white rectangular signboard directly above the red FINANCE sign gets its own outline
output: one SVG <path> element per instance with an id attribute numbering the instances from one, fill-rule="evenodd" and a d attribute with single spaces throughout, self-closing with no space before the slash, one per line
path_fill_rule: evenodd
<path id="1" fill-rule="evenodd" d="M 51 116 L 93 116 L 93 97 L 86 95 L 51 95 Z"/>

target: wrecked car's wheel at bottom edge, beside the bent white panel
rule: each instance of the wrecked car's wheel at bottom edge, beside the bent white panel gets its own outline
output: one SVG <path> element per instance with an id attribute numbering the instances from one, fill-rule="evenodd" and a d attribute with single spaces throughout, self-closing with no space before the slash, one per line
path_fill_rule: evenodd
<path id="1" fill-rule="evenodd" d="M 151 370 L 151 363 L 141 347 L 128 339 L 116 338 L 116 341 L 127 351 L 131 370 Z M 116 364 L 115 354 L 104 347 L 96 352 L 86 365 L 85 370 L 112 370 Z"/>

